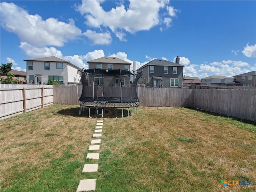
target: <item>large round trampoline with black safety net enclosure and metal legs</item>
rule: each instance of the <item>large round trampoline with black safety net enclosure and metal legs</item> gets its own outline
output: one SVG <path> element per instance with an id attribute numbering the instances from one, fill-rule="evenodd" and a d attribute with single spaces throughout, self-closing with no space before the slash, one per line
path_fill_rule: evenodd
<path id="1" fill-rule="evenodd" d="M 142 73 L 134 74 L 125 70 L 99 70 L 99 69 L 82 69 L 80 71 L 82 78 L 83 90 L 79 98 L 80 108 L 79 115 L 82 111 L 89 109 L 89 117 L 91 116 L 91 109 L 95 109 L 95 118 L 104 118 L 106 108 L 114 108 L 117 116 L 117 109 L 122 109 L 122 116 L 124 117 L 124 109 L 128 110 L 128 117 L 130 115 L 130 108 L 136 108 L 138 114 L 138 95 L 137 83 Z M 130 79 L 135 76 L 133 84 L 130 84 Z M 104 80 L 105 85 L 100 85 L 100 78 Z M 86 83 L 88 80 L 88 86 Z M 118 79 L 118 86 L 111 86 L 113 80 Z M 123 80 L 123 84 L 120 81 Z M 129 87 L 124 86 L 125 79 L 129 80 Z M 106 83 L 105 83 L 106 81 Z M 107 83 L 108 82 L 108 83 Z"/>

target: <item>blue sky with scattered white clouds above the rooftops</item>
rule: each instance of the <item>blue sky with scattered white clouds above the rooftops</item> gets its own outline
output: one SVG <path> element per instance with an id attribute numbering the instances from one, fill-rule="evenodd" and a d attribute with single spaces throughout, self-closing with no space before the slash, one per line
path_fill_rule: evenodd
<path id="1" fill-rule="evenodd" d="M 184 75 L 256 70 L 256 1 L 2 1 L 1 63 L 116 56 L 137 68 L 180 56 Z M 133 66 L 132 66 L 133 67 Z"/>

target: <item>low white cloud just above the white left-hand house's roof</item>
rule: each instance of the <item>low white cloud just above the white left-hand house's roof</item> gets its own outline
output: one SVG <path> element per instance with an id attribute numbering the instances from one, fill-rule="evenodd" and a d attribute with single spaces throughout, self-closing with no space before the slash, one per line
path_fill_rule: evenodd
<path id="1" fill-rule="evenodd" d="M 61 51 L 57 50 L 54 47 L 38 48 L 26 42 L 21 42 L 19 48 L 21 48 L 25 52 L 26 56 L 29 56 L 30 58 L 40 58 L 40 57 L 50 57 L 50 56 L 56 56 L 58 58 L 62 58 Z"/>

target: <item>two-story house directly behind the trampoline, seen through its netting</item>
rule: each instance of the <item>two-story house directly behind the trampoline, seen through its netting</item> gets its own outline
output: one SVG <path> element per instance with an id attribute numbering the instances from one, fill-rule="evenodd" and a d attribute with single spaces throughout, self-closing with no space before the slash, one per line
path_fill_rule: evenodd
<path id="1" fill-rule="evenodd" d="M 126 62 L 116 57 L 101 57 L 91 61 L 87 61 L 89 69 L 102 69 L 102 70 L 125 70 L 130 71 L 131 63 Z M 95 75 L 88 77 L 89 86 L 94 84 L 103 86 L 126 86 L 130 85 L 130 76 L 107 76 L 107 75 Z"/>

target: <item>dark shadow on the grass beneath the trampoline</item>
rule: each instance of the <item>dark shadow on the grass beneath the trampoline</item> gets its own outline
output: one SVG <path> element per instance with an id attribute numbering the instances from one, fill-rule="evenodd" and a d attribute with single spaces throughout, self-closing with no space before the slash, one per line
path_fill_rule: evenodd
<path id="1" fill-rule="evenodd" d="M 74 116 L 74 117 L 87 117 L 89 118 L 89 108 L 87 108 L 85 111 L 82 111 L 82 113 L 79 115 L 79 107 L 76 108 L 68 108 L 63 109 L 57 112 L 60 115 L 66 115 L 66 116 Z M 102 110 L 98 110 L 98 114 L 101 114 Z M 104 118 L 116 118 L 122 117 L 122 109 L 117 109 L 117 111 L 114 108 L 111 109 L 105 109 Z M 129 113 L 129 116 L 132 114 Z M 90 110 L 90 117 L 95 118 L 95 108 L 91 108 Z M 98 115 L 98 118 L 100 118 L 101 115 Z M 128 110 L 124 109 L 123 117 L 128 117 Z"/>

